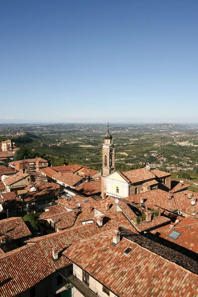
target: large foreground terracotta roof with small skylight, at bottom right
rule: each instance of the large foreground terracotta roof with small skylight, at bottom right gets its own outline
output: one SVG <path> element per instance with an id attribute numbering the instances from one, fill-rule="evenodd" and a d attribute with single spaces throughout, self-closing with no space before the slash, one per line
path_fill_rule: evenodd
<path id="1" fill-rule="evenodd" d="M 63 254 L 119 297 L 198 296 L 198 275 L 129 239 L 114 247 L 112 238 L 108 231 Z M 127 248 L 131 251 L 124 255 Z"/>

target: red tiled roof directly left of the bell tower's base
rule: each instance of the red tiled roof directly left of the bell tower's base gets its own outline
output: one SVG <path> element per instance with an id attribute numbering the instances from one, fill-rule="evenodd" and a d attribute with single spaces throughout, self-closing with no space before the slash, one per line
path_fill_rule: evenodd
<path id="1" fill-rule="evenodd" d="M 95 181 L 83 183 L 82 185 L 80 185 L 76 188 L 76 191 L 79 191 L 80 193 L 87 195 L 87 196 L 100 194 L 101 193 L 101 177 L 99 177 Z"/>

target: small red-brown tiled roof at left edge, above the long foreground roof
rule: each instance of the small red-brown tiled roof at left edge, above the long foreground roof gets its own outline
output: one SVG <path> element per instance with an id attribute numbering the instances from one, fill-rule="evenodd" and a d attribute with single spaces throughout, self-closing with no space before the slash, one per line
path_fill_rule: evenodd
<path id="1" fill-rule="evenodd" d="M 12 217 L 0 220 L 0 235 L 19 239 L 31 236 L 32 234 L 21 217 Z"/>

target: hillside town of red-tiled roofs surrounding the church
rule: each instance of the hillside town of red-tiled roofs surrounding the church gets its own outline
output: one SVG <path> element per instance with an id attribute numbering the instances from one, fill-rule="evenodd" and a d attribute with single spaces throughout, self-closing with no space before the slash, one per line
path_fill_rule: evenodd
<path id="1" fill-rule="evenodd" d="M 160 166 L 127 171 L 117 149 L 107 127 L 95 170 L 15 160 L 20 148 L 2 141 L 1 297 L 198 296 L 198 193 L 161 170 L 174 172 L 160 148 L 145 154 Z"/>

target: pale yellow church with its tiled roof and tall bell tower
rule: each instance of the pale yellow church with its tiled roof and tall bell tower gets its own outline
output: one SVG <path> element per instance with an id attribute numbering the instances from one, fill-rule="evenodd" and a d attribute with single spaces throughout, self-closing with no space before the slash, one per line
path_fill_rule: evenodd
<path id="1" fill-rule="evenodd" d="M 114 162 L 115 148 L 108 127 L 102 145 L 101 196 L 103 199 L 106 196 L 125 198 L 157 188 L 167 192 L 171 189 L 170 173 L 149 167 L 119 172 L 115 171 Z"/>

